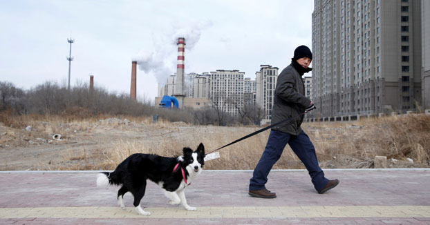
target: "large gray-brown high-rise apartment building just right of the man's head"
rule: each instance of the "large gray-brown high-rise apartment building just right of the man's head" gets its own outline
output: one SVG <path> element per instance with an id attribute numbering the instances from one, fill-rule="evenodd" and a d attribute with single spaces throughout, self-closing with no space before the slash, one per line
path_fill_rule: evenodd
<path id="1" fill-rule="evenodd" d="M 317 116 L 388 113 L 421 102 L 421 1 L 315 0 Z"/>

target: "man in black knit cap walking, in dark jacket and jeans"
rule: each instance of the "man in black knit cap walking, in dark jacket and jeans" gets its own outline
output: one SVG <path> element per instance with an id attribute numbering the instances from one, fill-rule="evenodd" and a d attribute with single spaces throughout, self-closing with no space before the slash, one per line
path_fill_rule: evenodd
<path id="1" fill-rule="evenodd" d="M 319 168 L 315 148 L 308 135 L 301 130 L 305 111 L 315 109 L 310 99 L 304 96 L 304 84 L 301 76 L 309 72 L 312 52 L 306 46 L 299 46 L 294 51 L 290 66 L 282 70 L 277 79 L 272 108 L 272 124 L 288 118 L 295 118 L 274 126 L 270 131 L 268 143 L 263 155 L 250 179 L 249 194 L 252 197 L 274 198 L 275 193 L 265 188 L 272 166 L 281 157 L 283 148 L 289 144 L 297 157 L 306 166 L 312 183 L 318 193 L 325 193 L 339 184 L 339 180 L 329 180 Z M 301 115 L 301 116 L 299 116 Z"/>

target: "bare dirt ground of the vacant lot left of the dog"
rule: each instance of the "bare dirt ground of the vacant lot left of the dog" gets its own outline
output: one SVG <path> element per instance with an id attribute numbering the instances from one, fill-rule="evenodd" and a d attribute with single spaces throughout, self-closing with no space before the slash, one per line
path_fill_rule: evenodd
<path id="1" fill-rule="evenodd" d="M 0 170 L 46 170 L 77 164 L 80 159 L 72 155 L 84 151 L 87 159 L 97 161 L 113 139 L 127 139 L 139 135 L 138 128 L 127 132 L 110 128 L 109 125 L 95 125 L 84 129 L 62 130 L 45 133 L 36 128 L 15 129 L 0 126 Z M 53 135 L 62 135 L 54 139 Z M 142 134 L 140 134 L 142 135 Z"/>

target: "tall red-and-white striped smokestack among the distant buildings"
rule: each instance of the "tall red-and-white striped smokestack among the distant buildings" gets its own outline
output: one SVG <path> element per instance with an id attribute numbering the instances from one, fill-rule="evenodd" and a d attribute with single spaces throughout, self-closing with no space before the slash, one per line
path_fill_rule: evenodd
<path id="1" fill-rule="evenodd" d="M 184 108 L 184 61 L 185 61 L 185 38 L 178 38 L 178 66 L 176 66 L 176 88 L 174 92 L 174 97 L 178 99 L 178 108 Z"/>

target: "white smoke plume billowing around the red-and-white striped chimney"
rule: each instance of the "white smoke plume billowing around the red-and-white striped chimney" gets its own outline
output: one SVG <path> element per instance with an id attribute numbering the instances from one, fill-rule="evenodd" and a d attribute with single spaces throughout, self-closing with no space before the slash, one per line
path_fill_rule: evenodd
<path id="1" fill-rule="evenodd" d="M 212 22 L 194 24 L 194 26 L 172 26 L 171 32 L 162 35 L 153 35 L 153 50 L 142 50 L 138 56 L 133 57 L 137 61 L 139 69 L 145 73 L 153 74 L 158 83 L 166 84 L 167 77 L 176 72 L 178 37 L 185 37 L 185 50 L 190 51 L 198 41 L 203 30 L 212 26 Z M 185 52 L 185 68 L 187 68 L 187 52 Z"/>

